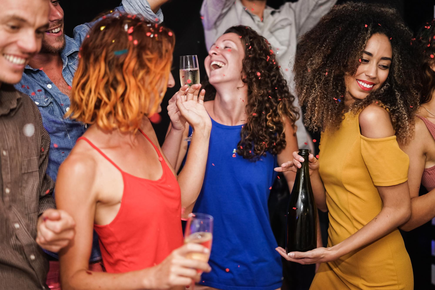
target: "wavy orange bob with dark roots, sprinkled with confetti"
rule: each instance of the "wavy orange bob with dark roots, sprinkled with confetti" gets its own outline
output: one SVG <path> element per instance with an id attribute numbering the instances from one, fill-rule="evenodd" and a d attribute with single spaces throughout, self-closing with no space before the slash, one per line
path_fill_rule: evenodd
<path id="1" fill-rule="evenodd" d="M 65 117 L 136 132 L 166 92 L 175 37 L 140 17 L 118 15 L 103 17 L 84 40 Z"/>

